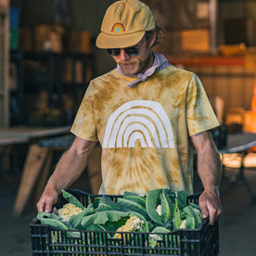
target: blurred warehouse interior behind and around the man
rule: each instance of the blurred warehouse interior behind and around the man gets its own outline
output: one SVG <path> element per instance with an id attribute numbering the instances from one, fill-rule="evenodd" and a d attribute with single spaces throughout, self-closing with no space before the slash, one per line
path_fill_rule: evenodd
<path id="1" fill-rule="evenodd" d="M 35 202 L 70 147 L 70 125 L 87 85 L 115 68 L 95 45 L 113 2 L 0 0 L 1 255 L 31 254 Z M 224 164 L 220 254 L 254 255 L 256 0 L 142 2 L 165 29 L 155 50 L 198 74 L 222 124 L 212 131 Z M 97 193 L 100 154 L 98 146 L 72 187 Z"/>

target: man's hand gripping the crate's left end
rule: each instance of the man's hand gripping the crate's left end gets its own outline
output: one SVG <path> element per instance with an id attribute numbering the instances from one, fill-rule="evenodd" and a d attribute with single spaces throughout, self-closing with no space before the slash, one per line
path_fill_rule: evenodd
<path id="1" fill-rule="evenodd" d="M 39 199 L 37 206 L 37 211 L 51 212 L 53 205 L 58 202 L 58 192 L 54 189 L 45 189 L 43 195 Z"/>

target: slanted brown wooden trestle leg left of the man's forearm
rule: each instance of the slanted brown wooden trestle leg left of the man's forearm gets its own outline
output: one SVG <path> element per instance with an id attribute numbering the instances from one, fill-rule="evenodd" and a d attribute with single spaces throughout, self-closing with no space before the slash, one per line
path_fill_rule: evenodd
<path id="1" fill-rule="evenodd" d="M 38 147 L 36 144 L 30 146 L 14 205 L 13 213 L 15 215 L 19 216 L 24 211 L 28 199 L 31 197 L 32 189 L 45 163 L 48 150 L 48 148 Z"/>

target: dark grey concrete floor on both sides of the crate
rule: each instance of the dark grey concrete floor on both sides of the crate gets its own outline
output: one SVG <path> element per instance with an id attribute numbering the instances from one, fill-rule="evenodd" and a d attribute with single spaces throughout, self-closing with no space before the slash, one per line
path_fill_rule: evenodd
<path id="1" fill-rule="evenodd" d="M 256 195 L 256 169 L 246 170 L 246 177 Z M 225 177 L 234 177 L 235 171 L 228 171 Z M 82 188 L 85 176 L 75 186 Z M 88 189 L 88 186 L 87 186 Z M 83 190 L 86 190 L 86 186 Z M 256 205 L 251 205 L 250 196 L 244 186 L 229 187 L 222 182 L 224 214 L 220 219 L 220 256 L 256 255 Z M 35 205 L 21 216 L 12 215 L 17 186 L 7 185 L 0 179 L 0 255 L 28 256 L 31 252 L 29 224 L 36 215 Z"/>

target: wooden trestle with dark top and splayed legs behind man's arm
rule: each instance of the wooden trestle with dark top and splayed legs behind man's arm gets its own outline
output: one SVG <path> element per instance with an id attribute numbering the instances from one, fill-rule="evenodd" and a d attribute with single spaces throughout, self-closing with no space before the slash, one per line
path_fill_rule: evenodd
<path id="1" fill-rule="evenodd" d="M 73 134 L 59 135 L 40 139 L 36 145 L 31 147 L 14 206 L 15 215 L 22 214 L 31 195 L 35 201 L 40 198 L 52 170 L 54 152 L 67 150 L 74 138 Z M 101 185 L 101 147 L 99 144 L 97 146 L 91 153 L 86 166 L 93 194 L 97 194 Z"/>

